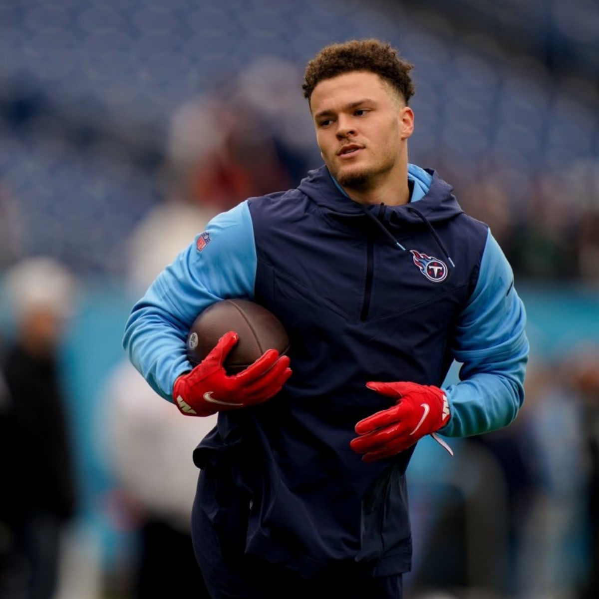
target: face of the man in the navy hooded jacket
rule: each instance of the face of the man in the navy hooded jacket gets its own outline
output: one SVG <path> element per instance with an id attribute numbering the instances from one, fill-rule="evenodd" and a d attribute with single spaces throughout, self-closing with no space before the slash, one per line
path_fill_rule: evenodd
<path id="1" fill-rule="evenodd" d="M 405 177 L 414 115 L 379 75 L 354 71 L 320 81 L 310 98 L 320 153 L 347 189 Z"/>

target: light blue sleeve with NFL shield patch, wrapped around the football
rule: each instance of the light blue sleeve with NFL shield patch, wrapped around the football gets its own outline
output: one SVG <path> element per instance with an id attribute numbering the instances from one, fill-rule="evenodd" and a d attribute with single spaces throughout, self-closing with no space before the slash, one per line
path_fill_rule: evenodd
<path id="1" fill-rule="evenodd" d="M 253 299 L 255 278 L 256 247 L 246 201 L 214 217 L 132 308 L 123 347 L 159 395 L 173 401 L 175 380 L 192 368 L 186 340 L 196 316 L 220 299 Z"/>

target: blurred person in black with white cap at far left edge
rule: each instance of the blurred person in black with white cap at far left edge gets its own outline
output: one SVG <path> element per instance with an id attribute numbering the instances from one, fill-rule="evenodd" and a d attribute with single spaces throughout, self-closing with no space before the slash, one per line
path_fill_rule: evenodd
<path id="1" fill-rule="evenodd" d="M 76 286 L 62 265 L 46 257 L 18 262 L 5 285 L 15 334 L 2 360 L 0 393 L 0 596 L 50 599 L 58 582 L 60 535 L 76 499 L 58 365 Z"/>

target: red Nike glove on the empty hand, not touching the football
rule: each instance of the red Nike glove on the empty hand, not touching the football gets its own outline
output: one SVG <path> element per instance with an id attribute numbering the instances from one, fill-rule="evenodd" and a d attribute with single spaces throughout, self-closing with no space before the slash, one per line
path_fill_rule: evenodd
<path id="1" fill-rule="evenodd" d="M 412 447 L 428 434 L 453 455 L 449 446 L 434 434 L 449 421 L 449 403 L 444 391 L 409 382 L 369 382 L 366 386 L 387 397 L 397 398 L 397 404 L 356 424 L 359 436 L 352 439 L 350 446 L 363 454 L 362 460 L 373 462 L 389 458 Z"/>

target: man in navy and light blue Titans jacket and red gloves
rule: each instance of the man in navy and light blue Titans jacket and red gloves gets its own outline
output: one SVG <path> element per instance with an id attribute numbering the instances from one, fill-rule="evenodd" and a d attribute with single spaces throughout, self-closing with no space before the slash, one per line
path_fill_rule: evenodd
<path id="1" fill-rule="evenodd" d="M 409 164 L 411 69 L 377 40 L 321 50 L 303 89 L 325 165 L 214 218 L 126 324 L 162 397 L 220 412 L 194 452 L 192 517 L 217 599 L 401 597 L 416 442 L 501 428 L 524 400 L 509 264 L 451 187 Z M 192 370 L 187 330 L 228 297 L 273 311 L 289 356 L 227 377 L 231 332 Z M 461 382 L 441 390 L 454 359 Z"/>

